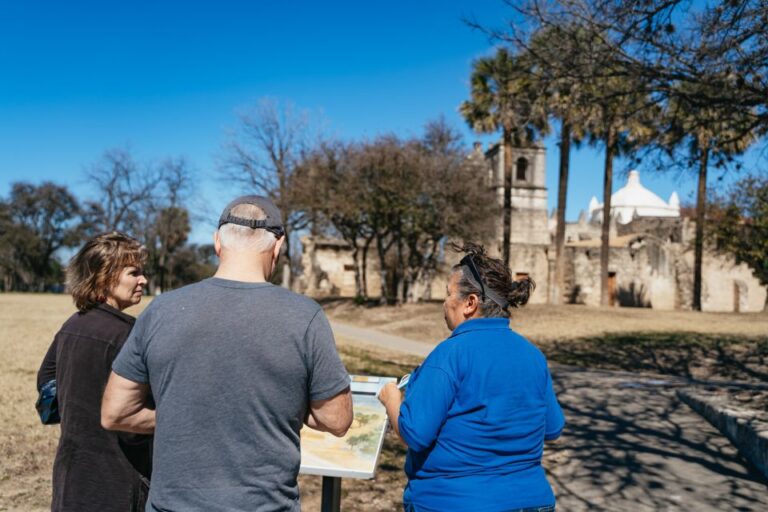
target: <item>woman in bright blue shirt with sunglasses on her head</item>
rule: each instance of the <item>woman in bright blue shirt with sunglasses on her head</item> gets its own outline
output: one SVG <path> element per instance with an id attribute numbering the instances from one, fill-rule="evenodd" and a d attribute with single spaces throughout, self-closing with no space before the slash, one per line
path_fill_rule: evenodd
<path id="1" fill-rule="evenodd" d="M 514 281 L 482 246 L 453 267 L 443 309 L 451 335 L 411 375 L 379 395 L 408 445 L 406 511 L 551 511 L 541 466 L 565 420 L 544 355 L 509 328 L 530 279 Z"/>

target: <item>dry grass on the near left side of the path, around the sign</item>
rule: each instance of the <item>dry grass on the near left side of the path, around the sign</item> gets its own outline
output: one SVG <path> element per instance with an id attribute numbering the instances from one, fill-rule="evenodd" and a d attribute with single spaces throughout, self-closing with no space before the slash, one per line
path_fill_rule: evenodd
<path id="1" fill-rule="evenodd" d="M 146 303 L 128 310 L 138 314 Z M 0 294 L 0 511 L 50 510 L 53 457 L 59 429 L 43 426 L 34 403 L 37 369 L 61 324 L 75 312 L 61 295 Z M 361 350 L 339 340 L 352 373 L 400 376 L 418 362 L 385 351 Z M 405 452 L 385 441 L 376 479 L 344 480 L 345 510 L 388 511 L 400 503 Z M 320 477 L 299 479 L 304 510 L 320 509 Z"/>

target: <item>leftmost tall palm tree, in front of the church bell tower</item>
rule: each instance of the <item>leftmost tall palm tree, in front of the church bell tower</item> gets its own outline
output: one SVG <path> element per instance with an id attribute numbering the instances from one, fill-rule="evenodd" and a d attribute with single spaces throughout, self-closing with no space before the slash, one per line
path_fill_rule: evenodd
<path id="1" fill-rule="evenodd" d="M 509 266 L 512 227 L 512 147 L 531 143 L 548 130 L 543 94 L 532 80 L 525 55 L 499 48 L 473 64 L 471 99 L 459 107 L 478 133 L 502 132 L 504 148 L 504 232 L 502 257 Z"/>

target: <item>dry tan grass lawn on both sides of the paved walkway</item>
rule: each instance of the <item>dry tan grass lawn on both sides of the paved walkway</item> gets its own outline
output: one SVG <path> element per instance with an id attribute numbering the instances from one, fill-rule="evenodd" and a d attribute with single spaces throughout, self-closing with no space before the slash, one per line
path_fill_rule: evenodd
<path id="1" fill-rule="evenodd" d="M 331 302 L 326 309 L 340 321 L 413 339 L 437 342 L 448 334 L 437 304 L 362 308 Z M 40 425 L 35 377 L 53 335 L 73 312 L 67 296 L 0 294 L 0 511 L 49 508 L 58 428 Z M 513 327 L 556 361 L 701 377 L 768 378 L 766 314 L 533 306 L 516 312 Z M 418 364 L 415 358 L 338 341 L 351 373 L 399 376 Z M 375 480 L 344 481 L 344 509 L 398 509 L 405 483 L 403 460 L 402 444 L 388 436 Z M 320 478 L 300 477 L 300 485 L 303 509 L 318 510 Z"/>

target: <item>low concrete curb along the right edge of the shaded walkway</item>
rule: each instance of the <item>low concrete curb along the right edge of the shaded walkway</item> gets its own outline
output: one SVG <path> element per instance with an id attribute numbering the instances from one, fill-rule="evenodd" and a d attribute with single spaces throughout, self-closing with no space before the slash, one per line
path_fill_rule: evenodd
<path id="1" fill-rule="evenodd" d="M 678 389 L 677 396 L 723 433 L 768 479 L 768 413 L 729 407 L 727 396 Z"/>

